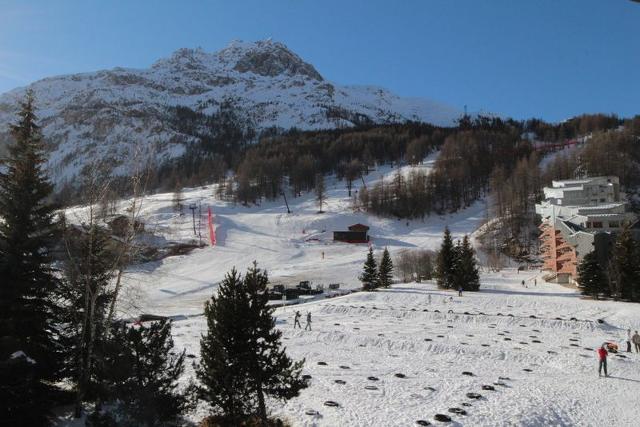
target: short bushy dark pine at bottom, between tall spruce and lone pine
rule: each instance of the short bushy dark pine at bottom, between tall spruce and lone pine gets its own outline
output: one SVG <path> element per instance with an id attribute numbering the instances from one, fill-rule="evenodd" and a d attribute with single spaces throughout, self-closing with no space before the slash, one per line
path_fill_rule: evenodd
<path id="1" fill-rule="evenodd" d="M 103 416 L 116 412 L 118 425 L 174 425 L 192 401 L 189 387 L 178 390 L 186 352 L 174 354 L 173 348 L 167 320 L 148 326 L 114 326 L 100 349 L 97 373 L 103 401 L 109 404 Z"/>

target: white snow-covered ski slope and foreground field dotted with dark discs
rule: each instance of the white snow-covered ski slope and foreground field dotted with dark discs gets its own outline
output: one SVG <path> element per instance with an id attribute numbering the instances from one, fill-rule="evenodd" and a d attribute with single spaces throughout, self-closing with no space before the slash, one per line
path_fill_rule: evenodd
<path id="1" fill-rule="evenodd" d="M 429 169 L 435 157 L 420 167 Z M 393 173 L 383 167 L 365 181 L 371 185 Z M 424 221 L 376 218 L 350 209 L 344 183 L 329 179 L 327 190 L 323 214 L 317 213 L 313 195 L 290 198 L 292 214 L 286 214 L 281 201 L 242 207 L 215 200 L 213 187 L 185 190 L 185 205 L 201 201 L 213 207 L 219 245 L 132 268 L 125 285 L 134 301 L 123 304 L 120 315 L 172 316 L 177 348 L 186 348 L 197 361 L 206 328 L 203 303 L 231 267 L 244 272 L 257 260 L 272 282 L 304 279 L 356 288 L 368 247 L 334 243 L 333 230 L 367 224 L 377 255 L 385 246 L 393 255 L 404 248 L 435 249 L 445 225 L 461 237 L 486 216 L 479 202 Z M 158 194 L 144 200 L 147 229 L 168 240 L 193 239 L 190 212 L 175 213 L 172 198 Z M 82 209 L 71 214 L 80 218 Z M 595 349 L 605 340 L 621 343 L 627 328 L 639 330 L 640 306 L 583 300 L 573 289 L 540 277 L 537 271 L 508 268 L 483 273 L 481 292 L 462 297 L 433 283 L 411 283 L 278 308 L 284 343 L 295 359 L 306 359 L 304 373 L 311 382 L 298 398 L 272 402 L 274 414 L 294 426 L 412 426 L 418 420 L 437 425 L 438 413 L 458 426 L 638 425 L 640 355 L 612 355 L 612 377 L 599 379 Z M 295 310 L 303 319 L 311 312 L 313 331 L 292 329 Z M 192 375 L 189 366 L 185 382 Z M 483 390 L 487 385 L 495 390 Z M 339 406 L 325 406 L 329 400 Z M 206 413 L 201 406 L 191 417 L 196 421 Z"/>

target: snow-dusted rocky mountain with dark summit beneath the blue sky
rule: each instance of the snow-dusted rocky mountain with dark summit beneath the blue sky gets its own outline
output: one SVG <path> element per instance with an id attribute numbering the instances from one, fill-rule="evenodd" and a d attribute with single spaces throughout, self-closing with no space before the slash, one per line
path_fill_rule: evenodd
<path id="1" fill-rule="evenodd" d="M 8 141 L 18 101 L 32 89 L 50 151 L 53 180 L 73 182 L 95 161 L 127 174 L 143 159 L 181 156 L 197 133 L 176 126 L 183 107 L 216 114 L 233 105 L 256 131 L 330 129 L 406 120 L 451 126 L 460 112 L 425 99 L 400 98 L 371 86 L 340 86 L 285 45 L 232 42 L 207 53 L 179 49 L 149 69 L 114 68 L 46 78 L 0 96 L 0 145 Z"/>

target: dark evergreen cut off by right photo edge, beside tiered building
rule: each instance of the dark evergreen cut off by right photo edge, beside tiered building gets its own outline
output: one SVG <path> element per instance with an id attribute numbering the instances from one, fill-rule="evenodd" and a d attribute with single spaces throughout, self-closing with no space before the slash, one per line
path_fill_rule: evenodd
<path id="1" fill-rule="evenodd" d="M 640 250 L 629 227 L 625 227 L 616 239 L 612 262 L 617 272 L 617 297 L 640 301 Z"/>

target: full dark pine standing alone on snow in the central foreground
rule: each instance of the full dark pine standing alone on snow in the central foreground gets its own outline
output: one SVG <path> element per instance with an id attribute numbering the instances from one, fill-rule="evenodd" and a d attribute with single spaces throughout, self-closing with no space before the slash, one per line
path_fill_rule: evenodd
<path id="1" fill-rule="evenodd" d="M 265 395 L 286 400 L 307 385 L 300 377 L 304 361 L 292 362 L 281 347 L 267 283 L 255 264 L 244 280 L 233 269 L 205 304 L 198 394 L 225 425 L 253 414 L 266 422 Z"/>

